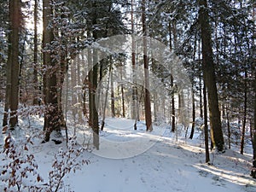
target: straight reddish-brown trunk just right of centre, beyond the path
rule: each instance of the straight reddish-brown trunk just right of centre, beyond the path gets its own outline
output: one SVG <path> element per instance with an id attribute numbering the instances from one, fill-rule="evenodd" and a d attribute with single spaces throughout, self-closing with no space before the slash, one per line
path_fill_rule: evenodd
<path id="1" fill-rule="evenodd" d="M 152 117 L 151 117 L 151 103 L 149 93 L 149 72 L 148 72 L 148 49 L 147 49 L 147 26 L 146 26 L 146 0 L 142 1 L 143 6 L 143 61 L 144 61 L 144 76 L 145 76 L 145 119 L 147 131 L 153 131 Z"/>

